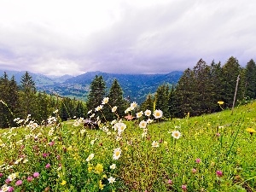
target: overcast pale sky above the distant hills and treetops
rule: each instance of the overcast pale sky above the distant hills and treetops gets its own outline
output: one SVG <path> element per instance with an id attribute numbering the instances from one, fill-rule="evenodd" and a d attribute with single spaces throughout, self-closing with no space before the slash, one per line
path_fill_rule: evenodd
<path id="1" fill-rule="evenodd" d="M 255 0 L 0 0 L 0 69 L 170 73 L 256 61 Z"/>

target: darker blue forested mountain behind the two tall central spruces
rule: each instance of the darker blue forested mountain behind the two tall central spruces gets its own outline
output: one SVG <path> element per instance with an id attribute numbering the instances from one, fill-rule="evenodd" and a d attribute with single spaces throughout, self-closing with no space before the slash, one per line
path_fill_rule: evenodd
<path id="1" fill-rule="evenodd" d="M 119 81 L 120 86 L 124 91 L 125 97 L 130 97 L 132 101 L 141 103 L 149 93 L 154 94 L 160 84 L 176 84 L 183 72 L 174 71 L 166 74 L 114 74 L 102 72 L 88 72 L 77 77 L 67 79 L 64 84 L 77 84 L 84 87 L 84 90 L 89 90 L 90 83 L 96 75 L 102 75 L 106 81 L 107 89 L 110 89 L 113 79 Z"/>

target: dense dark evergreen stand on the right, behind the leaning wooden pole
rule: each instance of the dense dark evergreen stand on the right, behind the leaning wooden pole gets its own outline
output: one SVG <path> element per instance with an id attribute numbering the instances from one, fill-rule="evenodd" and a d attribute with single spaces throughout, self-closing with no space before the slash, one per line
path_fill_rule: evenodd
<path id="1" fill-rule="evenodd" d="M 232 108 L 238 79 L 236 105 L 256 98 L 256 66 L 253 60 L 241 67 L 231 56 L 222 66 L 220 62 L 207 65 L 202 59 L 188 68 L 177 84 L 162 84 L 156 94 L 149 94 L 141 108 L 161 109 L 166 118 L 183 118 L 215 113 Z M 224 102 L 219 105 L 218 102 Z"/>

